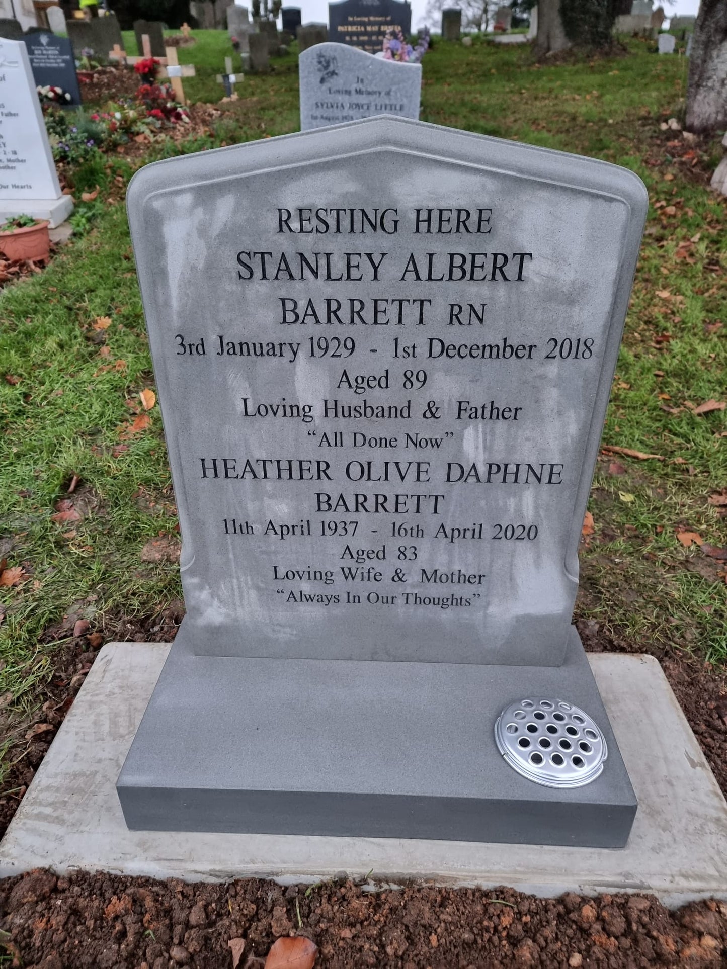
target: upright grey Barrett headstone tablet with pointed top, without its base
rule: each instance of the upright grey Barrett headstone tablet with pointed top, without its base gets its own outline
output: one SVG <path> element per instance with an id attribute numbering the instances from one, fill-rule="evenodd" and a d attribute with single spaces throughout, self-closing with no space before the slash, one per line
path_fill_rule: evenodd
<path id="1" fill-rule="evenodd" d="M 559 665 L 647 205 L 391 117 L 138 172 L 193 652 Z"/>

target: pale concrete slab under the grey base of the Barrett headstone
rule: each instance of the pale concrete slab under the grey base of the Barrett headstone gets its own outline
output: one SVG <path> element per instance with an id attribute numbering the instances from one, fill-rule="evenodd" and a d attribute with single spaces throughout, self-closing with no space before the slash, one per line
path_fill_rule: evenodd
<path id="1" fill-rule="evenodd" d="M 620 850 L 396 838 L 130 831 L 115 782 L 169 646 L 110 643 L 0 842 L 0 876 L 38 866 L 219 881 L 383 880 L 563 891 L 653 892 L 667 905 L 727 898 L 727 804 L 657 662 L 591 655 L 639 799 Z"/>

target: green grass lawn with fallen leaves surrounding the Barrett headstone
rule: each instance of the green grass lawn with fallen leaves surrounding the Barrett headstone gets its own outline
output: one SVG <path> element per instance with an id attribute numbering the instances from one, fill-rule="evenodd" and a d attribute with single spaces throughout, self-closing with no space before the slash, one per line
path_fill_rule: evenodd
<path id="1" fill-rule="evenodd" d="M 216 102 L 214 75 L 232 47 L 223 31 L 195 36 L 179 49 L 198 70 L 185 89 Z M 124 42 L 133 52 L 133 35 Z M 604 444 L 660 459 L 599 461 L 577 614 L 629 648 L 723 664 L 727 563 L 677 538 L 727 546 L 727 517 L 709 501 L 727 488 L 727 411 L 694 412 L 727 396 L 725 205 L 706 189 L 720 149 L 714 139 L 687 150 L 679 132 L 660 130 L 683 109 L 686 67 L 654 51 L 633 42 L 626 56 L 538 66 L 527 48 L 440 42 L 424 62 L 422 118 L 603 158 L 645 180 L 648 228 Z M 149 157 L 297 130 L 296 57 L 272 65 L 220 106 L 210 136 L 155 144 Z M 105 192 L 127 174 L 97 169 Z M 176 565 L 140 557 L 150 538 L 174 535 L 175 509 L 158 409 L 131 432 L 153 373 L 122 194 L 98 203 L 93 228 L 47 271 L 0 296 L 0 559 L 23 570 L 0 589 L 0 698 L 12 695 L 0 722 L 12 743 L 72 635 L 65 615 L 123 638 L 129 619 L 148 628 L 180 595 Z M 110 325 L 98 328 L 103 318 Z M 54 520 L 74 476 L 82 517 Z"/>

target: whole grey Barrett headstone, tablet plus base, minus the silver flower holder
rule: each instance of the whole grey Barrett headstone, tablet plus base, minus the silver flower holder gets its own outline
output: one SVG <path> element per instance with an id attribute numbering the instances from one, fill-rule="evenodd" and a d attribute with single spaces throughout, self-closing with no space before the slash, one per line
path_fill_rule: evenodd
<path id="1" fill-rule="evenodd" d="M 186 605 L 127 824 L 622 846 L 571 621 L 641 180 L 379 116 L 147 166 L 127 202 Z M 593 783 L 499 755 L 538 695 L 604 731 Z"/>

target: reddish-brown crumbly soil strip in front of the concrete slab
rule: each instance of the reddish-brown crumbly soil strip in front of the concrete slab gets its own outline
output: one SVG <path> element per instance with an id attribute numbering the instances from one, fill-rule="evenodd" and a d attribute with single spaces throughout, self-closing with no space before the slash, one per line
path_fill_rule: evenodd
<path id="1" fill-rule="evenodd" d="M 643 895 L 543 899 L 350 881 L 187 885 L 36 870 L 0 883 L 0 930 L 12 964 L 35 969 L 230 969 L 229 942 L 240 938 L 239 965 L 262 969 L 275 939 L 296 934 L 315 942 L 320 966 L 638 969 L 723 964 L 727 904 L 669 912 Z"/>

